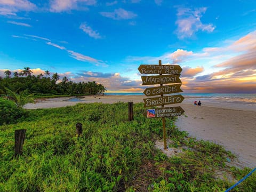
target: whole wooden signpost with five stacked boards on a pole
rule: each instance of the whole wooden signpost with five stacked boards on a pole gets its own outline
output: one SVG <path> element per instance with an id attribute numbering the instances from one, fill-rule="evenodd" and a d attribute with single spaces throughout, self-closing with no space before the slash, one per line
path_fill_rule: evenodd
<path id="1" fill-rule="evenodd" d="M 167 149 L 165 117 L 180 116 L 184 113 L 181 107 L 164 107 L 164 105 L 171 105 L 181 103 L 184 99 L 182 95 L 166 95 L 171 93 L 182 92 L 180 89 L 180 73 L 181 67 L 178 65 L 162 65 L 162 61 L 158 61 L 158 65 L 140 65 L 138 70 L 141 74 L 159 74 L 153 76 L 142 76 L 142 85 L 157 85 L 145 89 L 143 92 L 146 96 L 161 95 L 160 97 L 146 98 L 144 100 L 144 107 L 161 106 L 162 108 L 146 109 L 144 115 L 147 118 L 162 117 L 163 135 L 164 135 L 164 149 Z M 165 75 L 163 75 L 165 74 Z M 170 85 L 171 83 L 171 85 Z M 169 84 L 169 85 L 163 85 Z"/>

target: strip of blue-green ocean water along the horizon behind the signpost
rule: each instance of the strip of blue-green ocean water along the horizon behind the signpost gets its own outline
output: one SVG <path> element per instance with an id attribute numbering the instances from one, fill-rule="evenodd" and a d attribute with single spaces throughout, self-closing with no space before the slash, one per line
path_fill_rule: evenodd
<path id="1" fill-rule="evenodd" d="M 144 95 L 143 93 L 105 93 L 106 95 Z M 181 94 L 188 100 L 201 100 L 207 102 L 245 102 L 256 105 L 256 93 L 175 93 Z M 145 95 L 146 98 L 146 95 Z"/>

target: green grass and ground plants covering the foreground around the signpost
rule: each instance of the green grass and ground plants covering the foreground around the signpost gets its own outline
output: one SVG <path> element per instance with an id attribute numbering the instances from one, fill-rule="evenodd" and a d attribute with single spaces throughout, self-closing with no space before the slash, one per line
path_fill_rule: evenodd
<path id="1" fill-rule="evenodd" d="M 132 122 L 122 102 L 28 110 L 19 123 L 0 126 L 0 191 L 223 191 L 234 182 L 216 178 L 217 170 L 236 180 L 251 171 L 228 166 L 234 155 L 188 137 L 172 119 L 166 122 L 170 147 L 183 153 L 167 157 L 154 147 L 163 138 L 162 119 L 147 119 L 143 110 L 134 105 Z M 17 129 L 27 132 L 23 154 L 14 158 Z M 255 191 L 255 176 L 233 191 Z"/>

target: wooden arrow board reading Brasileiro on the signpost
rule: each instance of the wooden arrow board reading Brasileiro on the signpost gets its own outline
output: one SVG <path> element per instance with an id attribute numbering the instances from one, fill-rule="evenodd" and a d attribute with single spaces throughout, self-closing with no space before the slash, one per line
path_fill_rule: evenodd
<path id="1" fill-rule="evenodd" d="M 164 97 L 148 98 L 144 100 L 144 107 L 154 107 L 162 105 L 170 105 L 175 103 L 181 103 L 184 97 L 182 95 L 170 95 Z"/>

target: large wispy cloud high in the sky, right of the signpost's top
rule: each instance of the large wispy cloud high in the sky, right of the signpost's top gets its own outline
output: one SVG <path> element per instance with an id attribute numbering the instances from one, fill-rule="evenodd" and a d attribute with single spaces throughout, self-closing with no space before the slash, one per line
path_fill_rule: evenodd
<path id="1" fill-rule="evenodd" d="M 211 23 L 204 24 L 201 21 L 202 14 L 207 10 L 206 7 L 198 9 L 179 8 L 177 17 L 178 20 L 175 22 L 178 25 L 176 31 L 178 38 L 183 39 L 193 36 L 197 31 L 207 31 L 211 33 L 215 26 Z"/>

